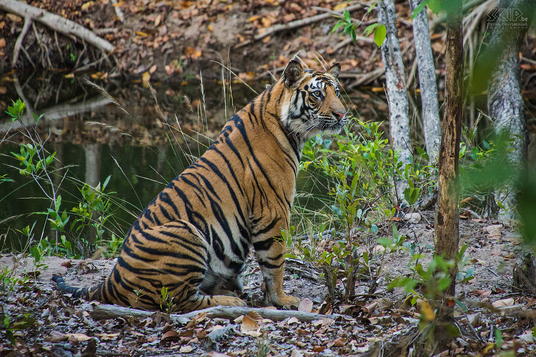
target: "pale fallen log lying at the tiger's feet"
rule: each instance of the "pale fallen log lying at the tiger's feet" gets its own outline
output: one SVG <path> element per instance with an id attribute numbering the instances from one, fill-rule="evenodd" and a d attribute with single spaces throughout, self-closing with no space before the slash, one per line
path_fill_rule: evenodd
<path id="1" fill-rule="evenodd" d="M 206 313 L 208 318 L 225 318 L 234 319 L 241 315 L 248 315 L 250 311 L 256 311 L 260 316 L 271 319 L 272 321 L 283 321 L 289 317 L 296 317 L 302 322 L 311 322 L 314 320 L 320 320 L 324 317 L 335 319 L 341 315 L 322 315 L 314 313 L 306 313 L 305 311 L 295 310 L 273 310 L 263 308 L 249 308 L 249 307 L 233 307 L 233 306 L 214 306 L 204 310 L 196 310 L 187 314 L 171 314 L 169 315 L 171 321 L 177 324 L 186 324 L 192 317 L 197 316 L 200 313 Z M 148 317 L 154 314 L 154 311 L 143 311 L 138 309 L 125 308 L 116 305 L 100 304 L 96 306 L 91 312 L 91 316 L 96 320 L 117 318 L 117 317 Z"/>

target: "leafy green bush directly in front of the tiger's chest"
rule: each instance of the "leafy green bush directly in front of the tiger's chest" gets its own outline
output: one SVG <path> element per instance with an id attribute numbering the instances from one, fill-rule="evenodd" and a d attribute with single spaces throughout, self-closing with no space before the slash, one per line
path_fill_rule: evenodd
<path id="1" fill-rule="evenodd" d="M 322 171 L 328 181 L 329 198 L 315 216 L 321 222 L 316 229 L 310 229 L 309 236 L 316 239 L 307 242 L 299 236 L 294 247 L 300 255 L 322 267 L 332 300 L 353 298 L 357 280 L 368 281 L 368 293 L 373 294 L 380 282 L 386 247 L 398 249 L 406 240 L 391 220 L 403 213 L 393 185 L 394 176 L 407 180 L 404 196 L 411 205 L 431 194 L 435 185 L 433 167 L 417 163 L 403 167 L 389 140 L 383 138 L 380 123 L 355 123 L 360 133 L 345 129 L 336 144 L 317 136 L 309 140 L 302 152 L 301 169 L 312 167 Z M 293 230 L 294 227 L 291 232 L 284 232 L 287 246 L 292 246 L 289 237 Z M 326 234 L 331 235 L 327 242 Z M 384 238 L 377 240 L 381 236 Z M 323 247 L 318 247 L 319 241 L 324 242 Z M 385 249 L 376 250 L 377 243 Z M 343 292 L 337 291 L 337 279 L 343 283 Z"/>

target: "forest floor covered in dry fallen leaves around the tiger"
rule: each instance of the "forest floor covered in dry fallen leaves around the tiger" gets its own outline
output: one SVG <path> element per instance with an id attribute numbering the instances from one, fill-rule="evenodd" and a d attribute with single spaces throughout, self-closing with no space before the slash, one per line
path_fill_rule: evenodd
<path id="1" fill-rule="evenodd" d="M 418 223 L 401 221 L 397 224 L 400 234 L 420 243 L 426 256 L 422 261 L 426 265 L 433 254 L 430 247 L 433 246 L 434 212 L 425 211 L 421 215 Z M 533 356 L 536 352 L 536 339 L 531 330 L 534 323 L 530 315 L 536 299 L 512 292 L 511 287 L 513 266 L 520 264 L 526 251 L 513 229 L 497 224 L 460 218 L 460 246 L 468 244 L 465 253 L 468 261 L 462 270 L 474 268 L 474 278 L 457 285 L 457 298 L 468 310 L 456 308 L 461 336 L 441 356 L 486 355 L 494 346 L 497 330 L 502 330 L 502 348 L 512 351 L 512 355 Z M 409 273 L 409 262 L 407 252 L 387 252 L 383 277 Z M 377 355 L 380 348 L 400 348 L 404 338 L 418 332 L 421 311 L 418 306 L 405 303 L 403 290 L 386 291 L 385 279 L 382 279 L 375 295 L 368 296 L 368 282 L 358 281 L 355 300 L 326 304 L 327 291 L 323 281 L 319 280 L 319 271 L 300 259 L 287 259 L 285 291 L 303 299 L 299 307 L 301 311 L 340 314 L 339 317 L 324 317 L 307 323 L 290 317 L 291 311 L 288 311 L 289 318 L 278 322 L 255 313 L 234 320 L 200 314 L 186 325 L 173 323 L 161 313 L 146 318 L 99 320 L 92 317 L 99 302 L 88 303 L 58 292 L 51 277 L 62 274 L 69 285 L 92 286 L 108 276 L 115 261 L 47 257 L 44 263 L 48 267 L 42 269 L 35 280 L 16 286 L 8 294 L 9 299 L 4 304 L 6 315 L 20 319 L 27 314 L 35 319 L 36 325 L 14 332 L 15 345 L 1 341 L 2 357 L 91 357 L 95 353 L 98 356 L 181 353 L 214 357 Z M 0 266 L 16 266 L 18 274 L 34 269 L 33 259 L 13 254 L 3 255 Z M 261 283 L 262 276 L 251 254 L 244 271 L 244 293 L 241 295 L 249 306 L 264 307 Z M 491 304 L 498 310 L 491 308 Z M 222 333 L 212 333 L 217 330 Z M 419 343 L 420 340 L 415 339 L 404 344 L 411 349 Z"/>

